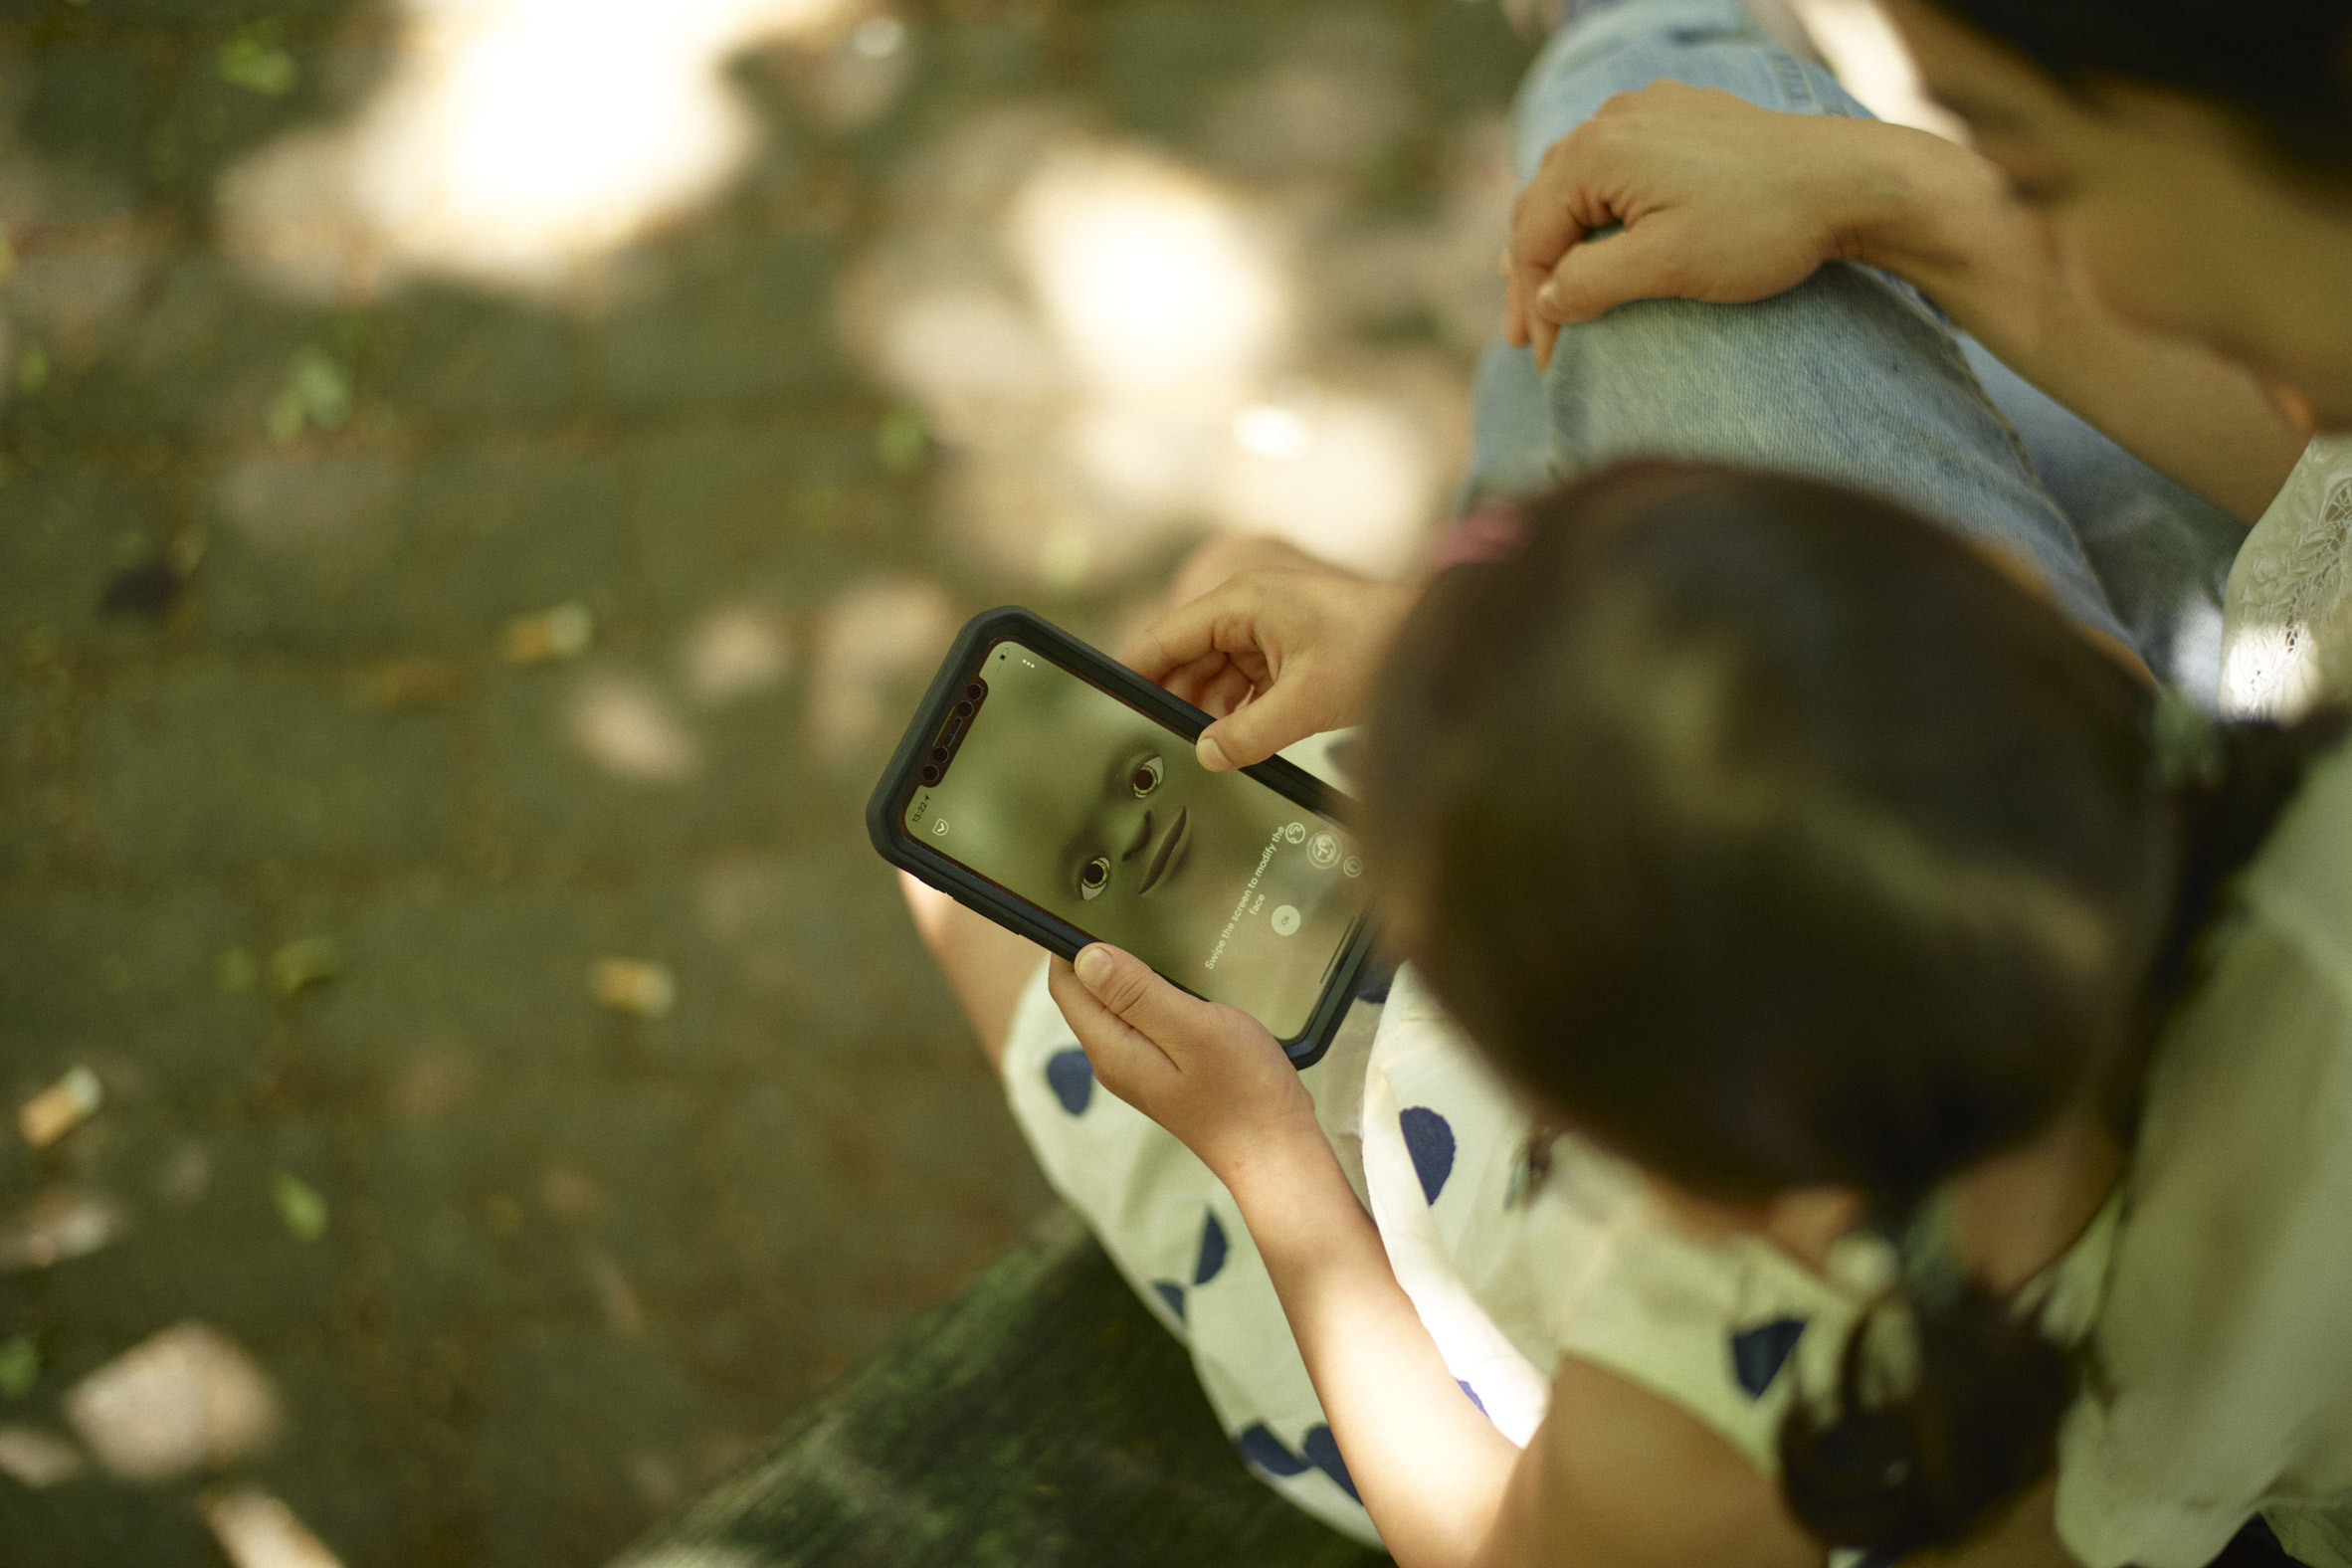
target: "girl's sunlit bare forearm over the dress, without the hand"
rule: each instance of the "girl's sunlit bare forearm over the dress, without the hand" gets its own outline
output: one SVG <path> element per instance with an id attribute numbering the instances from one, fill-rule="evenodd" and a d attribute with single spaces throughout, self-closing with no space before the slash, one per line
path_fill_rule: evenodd
<path id="1" fill-rule="evenodd" d="M 1390 1554 L 1479 1561 L 1519 1448 L 1454 1382 L 1329 1145 L 1268 1150 L 1225 1185 Z"/>

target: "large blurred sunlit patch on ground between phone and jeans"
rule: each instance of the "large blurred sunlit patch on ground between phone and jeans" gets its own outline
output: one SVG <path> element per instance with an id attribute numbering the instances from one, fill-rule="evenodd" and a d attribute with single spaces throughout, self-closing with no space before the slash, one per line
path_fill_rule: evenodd
<path id="1" fill-rule="evenodd" d="M 1312 108 L 1343 80 L 1289 71 L 1232 101 Z M 1343 221 L 1317 186 L 1378 110 L 1348 120 L 1294 113 L 1284 148 L 1275 115 L 1258 186 L 1033 110 L 915 165 L 849 331 L 950 444 L 950 527 L 978 562 L 1070 590 L 1225 529 L 1404 567 L 1458 470 L 1465 393 L 1456 364 L 1352 329 L 1484 331 L 1508 174 L 1472 132 L 1463 162 L 1486 167 L 1435 214 Z"/>

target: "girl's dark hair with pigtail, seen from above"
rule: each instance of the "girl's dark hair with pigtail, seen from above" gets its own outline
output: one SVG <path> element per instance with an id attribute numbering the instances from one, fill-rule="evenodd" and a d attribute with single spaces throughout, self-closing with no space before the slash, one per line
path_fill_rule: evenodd
<path id="1" fill-rule="evenodd" d="M 1409 957 L 1562 1126 L 1700 1194 L 1856 1187 L 1900 1229 L 2086 1098 L 2138 1100 L 2190 936 L 2340 724 L 2164 783 L 2154 696 L 1917 517 L 1618 468 L 1444 571 L 1359 780 Z M 2119 1126 L 2129 1135 L 2129 1126 Z M 1919 1378 L 1792 1401 L 1797 1519 L 1962 1540 L 2049 1469 L 2074 1359 L 1971 1288 Z"/>

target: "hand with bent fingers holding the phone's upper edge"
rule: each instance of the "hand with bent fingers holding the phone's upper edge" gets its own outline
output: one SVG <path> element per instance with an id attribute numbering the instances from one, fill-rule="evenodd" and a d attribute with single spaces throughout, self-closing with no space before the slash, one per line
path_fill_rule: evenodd
<path id="1" fill-rule="evenodd" d="M 1244 571 L 1160 616 L 1127 665 L 1218 715 L 1200 764 L 1240 769 L 1352 724 L 1411 604 L 1411 588 L 1338 571 Z"/>

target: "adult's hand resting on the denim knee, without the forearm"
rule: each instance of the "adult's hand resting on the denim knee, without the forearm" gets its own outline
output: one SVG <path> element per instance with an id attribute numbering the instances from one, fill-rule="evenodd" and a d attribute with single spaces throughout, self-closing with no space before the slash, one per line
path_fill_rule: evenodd
<path id="1" fill-rule="evenodd" d="M 1849 148 L 1875 122 L 1788 115 L 1712 87 L 1621 92 L 1545 150 L 1505 252 L 1512 343 L 1550 364 L 1559 327 L 1635 299 L 1738 306 L 1846 254 Z M 1590 240 L 1597 228 L 1621 233 Z"/>

